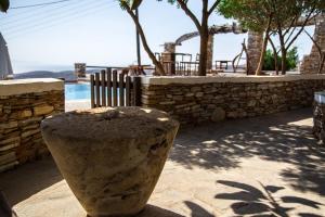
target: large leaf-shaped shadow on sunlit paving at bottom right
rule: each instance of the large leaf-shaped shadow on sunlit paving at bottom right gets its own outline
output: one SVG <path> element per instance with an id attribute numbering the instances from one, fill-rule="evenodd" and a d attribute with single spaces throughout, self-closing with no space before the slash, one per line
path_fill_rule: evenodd
<path id="1" fill-rule="evenodd" d="M 284 190 L 283 187 L 275 186 L 263 186 L 260 183 L 261 189 L 256 187 L 227 180 L 217 181 L 220 184 L 238 189 L 239 191 L 234 193 L 220 193 L 217 194 L 216 199 L 235 201 L 231 208 L 236 215 L 275 215 L 289 217 L 289 212 L 295 209 L 294 207 L 287 207 L 289 204 L 298 204 L 299 206 L 309 206 L 318 209 L 324 204 L 298 196 L 281 196 L 280 199 L 274 197 L 274 193 Z M 315 214 L 301 213 L 300 216 L 316 216 Z"/>

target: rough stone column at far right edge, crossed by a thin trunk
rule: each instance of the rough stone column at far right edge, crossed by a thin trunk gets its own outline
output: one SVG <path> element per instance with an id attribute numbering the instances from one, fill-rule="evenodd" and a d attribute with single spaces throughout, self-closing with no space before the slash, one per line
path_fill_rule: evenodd
<path id="1" fill-rule="evenodd" d="M 322 51 L 325 52 L 325 14 L 316 21 L 314 39 L 321 46 Z M 315 44 L 313 44 L 312 50 L 309 55 L 304 55 L 302 63 L 300 65 L 301 74 L 316 74 L 320 68 L 320 52 Z M 325 74 L 325 67 L 323 72 Z"/>

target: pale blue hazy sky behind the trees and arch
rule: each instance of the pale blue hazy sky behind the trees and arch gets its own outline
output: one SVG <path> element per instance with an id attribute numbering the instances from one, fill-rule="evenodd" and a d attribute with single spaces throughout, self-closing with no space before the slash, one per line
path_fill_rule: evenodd
<path id="1" fill-rule="evenodd" d="M 11 0 L 11 8 L 56 0 Z M 200 16 L 200 1 L 190 0 L 190 8 Z M 165 42 L 196 30 L 181 9 L 166 1 L 143 1 L 140 20 L 150 47 L 161 52 Z M 210 25 L 231 24 L 213 14 Z M 308 30 L 312 34 L 313 27 Z M 69 0 L 47 7 L 10 9 L 0 15 L 0 31 L 8 42 L 14 73 L 29 71 L 74 69 L 74 63 L 127 66 L 136 62 L 135 27 L 116 0 Z M 246 35 L 216 35 L 213 60 L 233 60 L 242 50 Z M 312 42 L 302 35 L 295 46 L 299 58 L 308 54 Z M 177 52 L 195 54 L 198 38 L 177 48 Z M 142 63 L 151 61 L 142 50 Z"/>

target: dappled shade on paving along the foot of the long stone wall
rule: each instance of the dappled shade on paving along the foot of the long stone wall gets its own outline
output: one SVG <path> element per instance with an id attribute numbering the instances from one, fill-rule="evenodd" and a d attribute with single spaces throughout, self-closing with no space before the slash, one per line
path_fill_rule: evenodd
<path id="1" fill-rule="evenodd" d="M 243 157 L 291 164 L 281 176 L 295 189 L 325 195 L 325 148 L 313 139 L 312 127 L 291 124 L 311 118 L 311 108 L 263 117 L 184 128 L 170 159 L 186 168 L 230 169 Z"/>

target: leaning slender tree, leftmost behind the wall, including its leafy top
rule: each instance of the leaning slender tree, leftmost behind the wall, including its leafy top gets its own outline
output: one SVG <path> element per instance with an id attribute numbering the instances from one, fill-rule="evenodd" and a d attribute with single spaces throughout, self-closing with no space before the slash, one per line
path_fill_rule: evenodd
<path id="1" fill-rule="evenodd" d="M 120 7 L 122 10 L 125 10 L 132 18 L 133 23 L 136 26 L 136 30 L 140 35 L 143 48 L 145 52 L 148 54 L 150 59 L 152 60 L 153 64 L 156 66 L 156 73 L 159 75 L 166 75 L 162 64 L 156 59 L 154 52 L 151 50 L 145 34 L 143 31 L 143 28 L 140 24 L 139 17 L 135 15 L 134 10 L 138 9 L 142 0 L 119 0 Z"/>

